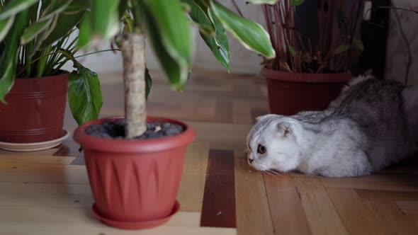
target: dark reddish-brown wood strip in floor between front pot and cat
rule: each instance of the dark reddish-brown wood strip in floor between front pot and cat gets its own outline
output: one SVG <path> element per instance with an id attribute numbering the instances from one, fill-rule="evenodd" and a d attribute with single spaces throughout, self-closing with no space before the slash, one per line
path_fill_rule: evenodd
<path id="1" fill-rule="evenodd" d="M 210 149 L 201 227 L 237 227 L 234 151 Z"/>

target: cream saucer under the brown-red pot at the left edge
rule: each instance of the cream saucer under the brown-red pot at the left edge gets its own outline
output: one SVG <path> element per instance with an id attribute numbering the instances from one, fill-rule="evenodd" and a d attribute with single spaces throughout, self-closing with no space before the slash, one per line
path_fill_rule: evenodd
<path id="1" fill-rule="evenodd" d="M 0 149 L 7 151 L 40 151 L 44 149 L 51 149 L 57 147 L 61 144 L 64 139 L 69 137 L 69 131 L 63 129 L 64 134 L 58 139 L 52 139 L 45 142 L 35 142 L 35 143 L 10 143 L 10 142 L 0 142 Z"/>

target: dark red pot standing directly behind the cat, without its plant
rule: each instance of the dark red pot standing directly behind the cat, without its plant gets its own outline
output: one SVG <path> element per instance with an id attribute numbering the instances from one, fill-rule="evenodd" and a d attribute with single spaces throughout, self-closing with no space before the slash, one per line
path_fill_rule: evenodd
<path id="1" fill-rule="evenodd" d="M 324 110 L 351 79 L 351 72 L 340 74 L 300 74 L 261 69 L 267 79 L 271 113 L 293 115 L 306 110 Z"/>

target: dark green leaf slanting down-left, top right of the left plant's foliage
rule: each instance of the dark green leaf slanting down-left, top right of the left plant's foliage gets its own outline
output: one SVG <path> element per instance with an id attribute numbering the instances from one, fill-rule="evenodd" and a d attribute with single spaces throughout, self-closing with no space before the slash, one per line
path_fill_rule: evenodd
<path id="1" fill-rule="evenodd" d="M 78 25 L 83 18 L 89 5 L 84 0 L 74 0 L 64 11 L 58 15 L 57 25 L 50 35 L 43 40 L 40 48 L 43 49 L 52 45 L 56 40 L 62 38 L 69 30 Z"/>

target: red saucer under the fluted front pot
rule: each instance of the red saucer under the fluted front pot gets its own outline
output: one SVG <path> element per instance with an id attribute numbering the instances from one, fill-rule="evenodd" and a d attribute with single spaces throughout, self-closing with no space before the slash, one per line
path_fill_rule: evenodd
<path id="1" fill-rule="evenodd" d="M 98 217 L 98 219 L 101 220 L 101 222 L 108 224 L 111 227 L 115 227 L 118 229 L 148 229 L 152 227 L 157 227 L 161 224 L 164 224 L 165 222 L 168 222 L 169 219 L 179 212 L 180 210 L 180 203 L 176 200 L 176 203 L 174 204 L 173 210 L 169 214 L 169 216 L 164 217 L 162 219 L 154 219 L 154 220 L 148 220 L 148 221 L 140 221 L 140 222 L 124 222 L 124 221 L 118 221 L 118 220 L 112 220 L 112 219 L 106 219 L 105 217 L 102 217 L 100 214 L 98 214 L 96 210 L 96 204 L 93 205 L 91 208 L 93 210 L 93 213 Z"/>

